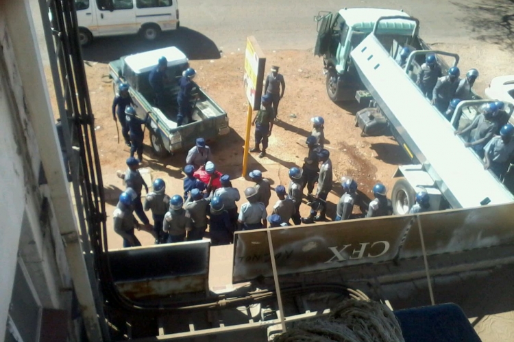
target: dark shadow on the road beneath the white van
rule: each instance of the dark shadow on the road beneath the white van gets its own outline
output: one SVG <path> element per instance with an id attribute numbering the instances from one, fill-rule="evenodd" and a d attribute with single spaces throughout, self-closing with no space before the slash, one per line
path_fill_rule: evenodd
<path id="1" fill-rule="evenodd" d="M 86 61 L 108 63 L 121 56 L 172 46 L 182 50 L 190 60 L 215 60 L 221 57 L 215 42 L 187 27 L 181 27 L 178 31 L 163 32 L 154 42 L 143 40 L 136 35 L 98 37 L 90 46 L 82 49 L 82 57 Z"/>

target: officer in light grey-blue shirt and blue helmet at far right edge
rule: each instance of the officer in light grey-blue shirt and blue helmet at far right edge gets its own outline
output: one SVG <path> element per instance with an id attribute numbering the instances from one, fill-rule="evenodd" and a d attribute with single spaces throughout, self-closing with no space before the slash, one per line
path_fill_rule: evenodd
<path id="1" fill-rule="evenodd" d="M 514 156 L 513 135 L 514 126 L 510 123 L 506 124 L 500 129 L 500 135 L 493 137 L 484 148 L 484 168 L 491 169 L 500 180 L 503 180 Z"/>

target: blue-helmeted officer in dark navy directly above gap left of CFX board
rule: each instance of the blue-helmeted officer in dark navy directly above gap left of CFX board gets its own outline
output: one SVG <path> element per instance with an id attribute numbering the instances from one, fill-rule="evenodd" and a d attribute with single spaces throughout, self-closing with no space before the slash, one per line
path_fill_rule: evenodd
<path id="1" fill-rule="evenodd" d="M 223 200 L 218 196 L 210 200 L 209 235 L 212 246 L 228 245 L 234 241 L 234 228 L 224 207 Z"/>

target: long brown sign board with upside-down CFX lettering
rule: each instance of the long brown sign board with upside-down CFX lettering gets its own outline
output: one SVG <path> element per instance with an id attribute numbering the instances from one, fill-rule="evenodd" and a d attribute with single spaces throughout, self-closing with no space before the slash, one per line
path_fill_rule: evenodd
<path id="1" fill-rule="evenodd" d="M 514 204 L 419 215 L 428 255 L 514 244 Z M 278 274 L 421 257 L 415 215 L 272 228 Z M 267 230 L 236 232 L 232 281 L 272 277 Z"/>

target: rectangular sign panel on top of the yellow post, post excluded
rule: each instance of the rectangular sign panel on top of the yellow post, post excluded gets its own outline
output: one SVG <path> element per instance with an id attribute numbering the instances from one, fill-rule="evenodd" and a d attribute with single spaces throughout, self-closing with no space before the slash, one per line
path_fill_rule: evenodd
<path id="1" fill-rule="evenodd" d="M 265 64 L 266 57 L 257 44 L 257 40 L 254 36 L 249 36 L 246 40 L 243 86 L 248 103 L 254 110 L 260 109 Z"/>

